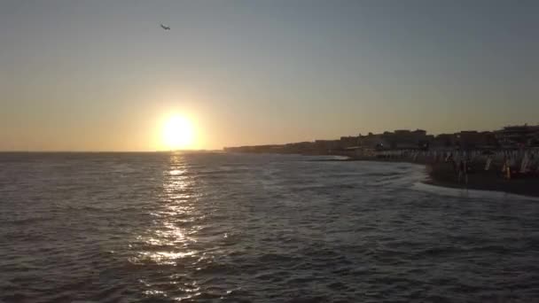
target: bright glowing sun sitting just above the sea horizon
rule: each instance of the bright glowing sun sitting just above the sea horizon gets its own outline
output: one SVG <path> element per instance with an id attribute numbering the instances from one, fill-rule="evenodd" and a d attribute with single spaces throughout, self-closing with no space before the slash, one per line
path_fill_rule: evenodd
<path id="1" fill-rule="evenodd" d="M 168 118 L 163 125 L 163 144 L 168 150 L 191 148 L 193 144 L 191 121 L 179 115 Z"/>

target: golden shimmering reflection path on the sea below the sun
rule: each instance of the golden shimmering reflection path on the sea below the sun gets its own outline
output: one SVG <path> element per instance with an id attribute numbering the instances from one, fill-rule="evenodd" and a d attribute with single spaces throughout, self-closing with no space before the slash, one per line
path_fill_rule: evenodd
<path id="1" fill-rule="evenodd" d="M 197 248 L 200 227 L 196 221 L 203 220 L 205 215 L 197 209 L 196 179 L 184 157 L 182 153 L 170 154 L 168 169 L 163 171 L 162 192 L 158 194 L 157 206 L 150 211 L 154 218 L 152 226 L 137 237 L 141 247 L 137 249 L 136 257 L 130 259 L 133 264 L 150 268 L 159 266 L 170 271 L 166 283 L 140 280 L 146 296 L 182 300 L 198 295 L 199 286 L 195 280 L 177 276 L 170 269 L 180 265 L 194 267 L 207 259 L 206 253 Z"/>

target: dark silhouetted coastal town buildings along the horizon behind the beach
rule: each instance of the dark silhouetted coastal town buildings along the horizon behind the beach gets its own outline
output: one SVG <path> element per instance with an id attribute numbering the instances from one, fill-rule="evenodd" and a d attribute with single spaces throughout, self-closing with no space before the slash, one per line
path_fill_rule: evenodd
<path id="1" fill-rule="evenodd" d="M 290 144 L 225 147 L 230 152 L 273 152 L 338 154 L 352 151 L 394 150 L 515 150 L 539 148 L 539 125 L 506 126 L 494 131 L 466 130 L 454 134 L 427 135 L 426 130 L 396 129 L 382 134 L 341 136 L 335 140 L 315 140 Z"/>

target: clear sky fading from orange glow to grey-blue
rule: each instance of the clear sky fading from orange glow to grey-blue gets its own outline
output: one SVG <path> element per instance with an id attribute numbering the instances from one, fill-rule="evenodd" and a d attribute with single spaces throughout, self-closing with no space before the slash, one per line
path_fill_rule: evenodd
<path id="1" fill-rule="evenodd" d="M 535 0 L 0 0 L 0 151 L 537 124 L 538 54 Z"/>

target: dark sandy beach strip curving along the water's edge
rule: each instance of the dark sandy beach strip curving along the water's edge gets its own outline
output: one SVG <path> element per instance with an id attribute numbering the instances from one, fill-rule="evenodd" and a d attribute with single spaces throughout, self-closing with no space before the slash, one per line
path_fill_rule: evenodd
<path id="1" fill-rule="evenodd" d="M 340 155 L 337 155 L 340 156 Z M 354 157 L 348 159 L 321 159 L 316 161 L 372 161 L 372 162 L 392 162 L 410 163 L 422 165 L 426 168 L 427 179 L 422 181 L 434 186 L 441 186 L 451 189 L 461 190 L 488 190 L 505 192 L 520 196 L 539 197 L 539 178 L 520 177 L 507 180 L 501 171 L 492 167 L 489 171 L 484 170 L 484 165 L 473 163 L 473 173 L 468 174 L 468 183 L 458 183 L 457 173 L 453 170 L 451 163 L 432 161 L 413 161 L 410 159 L 384 159 L 377 157 Z"/>

